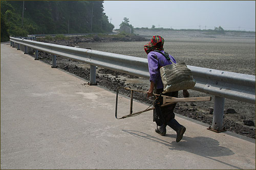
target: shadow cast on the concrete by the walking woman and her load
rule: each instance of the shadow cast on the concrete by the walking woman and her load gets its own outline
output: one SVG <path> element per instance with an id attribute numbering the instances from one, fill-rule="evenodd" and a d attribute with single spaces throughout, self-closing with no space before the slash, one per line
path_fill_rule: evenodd
<path id="1" fill-rule="evenodd" d="M 172 142 L 165 141 L 163 139 L 157 138 L 152 135 L 148 135 L 144 132 L 134 131 L 134 130 L 122 130 L 123 132 L 130 133 L 138 138 L 150 140 L 153 142 L 161 143 L 166 145 L 170 150 L 178 150 L 178 151 L 186 151 L 196 155 L 200 155 L 220 163 L 224 163 L 226 165 L 232 166 L 234 168 L 241 169 L 240 167 L 222 162 L 220 160 L 211 158 L 211 157 L 219 157 L 219 156 L 229 156 L 233 155 L 233 151 L 228 148 L 221 147 L 220 142 L 216 139 L 204 136 L 197 137 L 188 137 L 183 136 L 182 140 L 177 143 L 175 141 L 176 134 L 166 134 L 166 137 L 174 138 Z"/>

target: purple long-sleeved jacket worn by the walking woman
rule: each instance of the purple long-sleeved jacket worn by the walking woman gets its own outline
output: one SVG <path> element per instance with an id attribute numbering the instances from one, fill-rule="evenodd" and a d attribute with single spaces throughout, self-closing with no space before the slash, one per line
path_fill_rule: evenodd
<path id="1" fill-rule="evenodd" d="M 161 51 L 164 53 L 164 51 Z M 173 56 L 169 55 L 170 59 L 176 63 Z M 163 88 L 163 83 L 160 76 L 160 67 L 172 64 L 171 61 L 167 60 L 162 54 L 158 52 L 150 52 L 147 55 L 148 70 L 150 71 L 150 81 L 157 84 L 157 89 Z"/>

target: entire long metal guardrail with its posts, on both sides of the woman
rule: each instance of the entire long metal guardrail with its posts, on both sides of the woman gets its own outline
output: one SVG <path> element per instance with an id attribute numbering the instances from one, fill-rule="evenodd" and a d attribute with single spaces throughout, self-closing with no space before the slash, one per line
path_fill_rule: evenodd
<path id="1" fill-rule="evenodd" d="M 35 60 L 38 59 L 38 50 L 52 54 L 52 67 L 56 67 L 56 56 L 88 63 L 91 65 L 90 84 L 96 84 L 96 66 L 123 72 L 143 78 L 150 78 L 147 59 L 119 55 L 113 53 L 88 50 L 64 45 L 37 42 L 10 37 L 11 46 L 14 43 L 35 49 Z M 238 74 L 235 72 L 221 71 L 188 65 L 196 80 L 193 90 L 215 95 L 212 129 L 220 132 L 223 130 L 223 114 L 225 98 L 255 104 L 255 76 Z"/>

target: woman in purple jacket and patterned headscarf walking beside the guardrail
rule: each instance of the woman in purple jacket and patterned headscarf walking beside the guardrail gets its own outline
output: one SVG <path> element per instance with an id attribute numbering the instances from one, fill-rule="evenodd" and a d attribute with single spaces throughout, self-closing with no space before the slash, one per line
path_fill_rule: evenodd
<path id="1" fill-rule="evenodd" d="M 144 50 L 147 54 L 148 69 L 150 71 L 150 89 L 147 91 L 147 98 L 152 96 L 153 91 L 156 94 L 161 94 L 163 92 L 163 83 L 160 76 L 160 68 L 165 65 L 176 63 L 173 56 L 164 52 L 163 49 L 164 39 L 161 36 L 153 36 L 151 41 L 144 45 Z M 164 93 L 167 96 L 173 96 L 178 98 L 178 91 Z M 183 95 L 185 98 L 189 97 L 187 90 L 183 90 Z M 162 98 L 160 98 L 160 104 L 162 104 Z M 175 104 L 161 107 L 161 116 L 164 121 L 161 126 L 157 125 L 156 132 L 164 136 L 166 134 L 166 126 L 174 129 L 177 133 L 176 142 L 179 142 L 186 128 L 180 125 L 175 119 L 174 108 Z"/>

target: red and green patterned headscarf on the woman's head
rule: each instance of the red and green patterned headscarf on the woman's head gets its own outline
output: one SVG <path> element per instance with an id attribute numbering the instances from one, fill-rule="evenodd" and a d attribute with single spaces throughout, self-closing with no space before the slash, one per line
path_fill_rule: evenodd
<path id="1" fill-rule="evenodd" d="M 156 35 L 151 38 L 151 42 L 148 42 L 146 45 L 144 45 L 144 50 L 146 54 L 150 53 L 151 51 L 154 50 L 163 50 L 163 43 L 164 39 L 163 37 Z"/>

